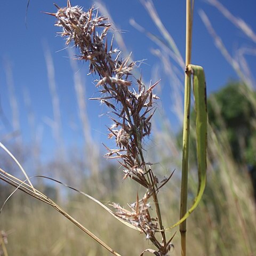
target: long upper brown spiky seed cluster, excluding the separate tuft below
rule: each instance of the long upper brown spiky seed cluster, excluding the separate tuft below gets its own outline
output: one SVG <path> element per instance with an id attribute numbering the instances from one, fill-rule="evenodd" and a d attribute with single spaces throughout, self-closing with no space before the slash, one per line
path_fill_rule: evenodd
<path id="1" fill-rule="evenodd" d="M 137 90 L 131 89 L 132 70 L 135 62 L 130 58 L 122 60 L 121 51 L 113 48 L 113 38 L 108 49 L 107 31 L 111 27 L 106 17 L 94 14 L 93 7 L 84 12 L 81 7 L 68 4 L 59 8 L 54 16 L 58 19 L 56 26 L 63 31 L 66 44 L 74 42 L 80 51 L 79 58 L 90 61 L 90 73 L 98 74 L 97 87 L 100 98 L 94 98 L 107 105 L 112 111 L 113 126 L 109 127 L 108 138 L 115 138 L 117 149 L 108 149 L 106 157 L 122 158 L 125 178 L 129 175 L 140 180 L 143 186 L 149 187 L 144 178 L 146 164 L 142 154 L 142 142 L 151 131 L 151 117 L 154 114 L 153 94 L 157 83 L 146 89 L 141 78 L 135 79 Z M 131 170 L 140 169 L 140 172 Z M 126 175 L 127 174 L 127 175 Z"/>

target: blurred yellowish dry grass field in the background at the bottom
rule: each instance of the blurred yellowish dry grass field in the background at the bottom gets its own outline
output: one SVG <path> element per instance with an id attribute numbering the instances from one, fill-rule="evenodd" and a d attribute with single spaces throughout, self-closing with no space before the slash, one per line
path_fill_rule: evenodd
<path id="1" fill-rule="evenodd" d="M 209 141 L 210 145 L 213 143 Z M 214 165 L 218 169 L 212 169 L 210 165 L 203 202 L 188 220 L 189 255 L 254 255 L 256 223 L 251 180 L 247 171 L 241 170 L 221 145 L 214 145 L 214 149 L 218 154 Z M 107 174 L 108 170 L 105 170 L 104 175 Z M 196 178 L 194 174 L 191 176 Z M 179 216 L 178 181 L 178 175 L 175 175 L 159 192 L 166 225 L 177 221 Z M 106 180 L 87 178 L 84 183 L 87 186 L 84 185 L 83 191 L 89 191 L 106 204 L 110 203 L 106 200 L 121 205 L 132 203 L 140 190 L 130 180 L 117 181 L 115 188 L 106 186 Z M 195 193 L 196 182 L 192 177 L 191 184 L 194 186 L 190 186 L 190 191 Z M 2 189 L 10 191 L 6 186 Z M 56 193 L 51 194 L 52 197 L 57 196 Z M 191 195 L 190 204 L 192 200 Z M 122 255 L 139 255 L 142 248 L 151 246 L 143 235 L 122 225 L 83 196 L 66 193 L 61 205 L 65 205 L 74 218 Z M 52 207 L 29 198 L 21 191 L 17 191 L 7 203 L 1 219 L 1 229 L 8 234 L 6 247 L 9 255 L 110 255 Z M 178 228 L 170 230 L 170 237 L 174 231 Z M 179 236 L 177 232 L 173 239 L 175 250 L 172 255 L 179 255 Z"/>

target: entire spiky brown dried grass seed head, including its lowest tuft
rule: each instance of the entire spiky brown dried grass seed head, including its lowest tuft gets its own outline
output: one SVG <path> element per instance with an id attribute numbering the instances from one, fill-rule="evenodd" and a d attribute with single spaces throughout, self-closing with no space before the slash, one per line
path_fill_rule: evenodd
<path id="1" fill-rule="evenodd" d="M 108 18 L 94 14 L 94 6 L 89 11 L 82 7 L 71 6 L 58 9 L 57 13 L 48 13 L 57 18 L 56 26 L 62 28 L 61 36 L 66 44 L 71 42 L 79 49 L 78 58 L 89 61 L 90 74 L 99 76 L 96 87 L 99 87 L 99 100 L 111 109 L 110 116 L 114 122 L 109 127 L 108 138 L 115 138 L 117 148 L 105 146 L 108 158 L 117 158 L 123 167 L 124 179 L 130 177 L 146 188 L 145 196 L 130 205 L 130 211 L 113 203 L 116 214 L 132 225 L 139 227 L 146 237 L 157 247 L 155 254 L 166 255 L 171 249 L 171 241 L 166 241 L 159 209 L 157 192 L 169 179 L 158 187 L 158 179 L 153 173 L 150 163 L 143 155 L 143 139 L 151 132 L 151 118 L 155 112 L 154 101 L 159 99 L 153 89 L 157 85 L 143 84 L 142 78 L 134 78 L 132 70 L 137 62 L 121 58 L 121 50 L 113 47 L 113 37 L 108 47 L 107 33 L 111 27 Z M 137 83 L 137 90 L 132 86 Z M 150 216 L 148 200 L 153 197 L 156 207 L 156 218 Z M 162 241 L 155 236 L 161 231 Z"/>

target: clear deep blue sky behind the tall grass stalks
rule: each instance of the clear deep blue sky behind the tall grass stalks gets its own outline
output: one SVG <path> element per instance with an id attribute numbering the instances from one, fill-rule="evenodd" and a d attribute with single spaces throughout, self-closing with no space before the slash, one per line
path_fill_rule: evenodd
<path id="1" fill-rule="evenodd" d="M 154 42 L 151 42 L 144 34 L 134 29 L 129 20 L 133 18 L 141 26 L 151 33 L 161 36 L 150 20 L 146 10 L 139 0 L 105 0 L 102 1 L 113 18 L 118 29 L 122 30 L 122 36 L 128 51 L 132 51 L 134 60 L 144 60 L 141 66 L 145 81 L 150 77 L 162 78 L 161 103 L 166 111 L 171 108 L 170 85 L 168 79 L 159 72 L 156 74 L 159 59 L 151 54 L 152 49 L 157 49 Z M 156 10 L 162 19 L 166 29 L 173 36 L 177 43 L 182 57 L 185 56 L 185 0 L 159 0 L 154 1 Z M 223 59 L 219 50 L 214 46 L 213 39 L 207 32 L 202 20 L 199 18 L 198 10 L 203 9 L 209 16 L 214 29 L 222 38 L 223 43 L 231 54 L 234 54 L 239 47 L 252 47 L 247 37 L 225 19 L 213 6 L 201 0 L 196 0 L 193 29 L 193 54 L 192 62 L 205 68 L 208 94 L 217 91 L 230 78 L 236 78 L 234 70 Z M 55 1 L 59 6 L 65 6 L 66 1 Z M 242 18 L 251 28 L 256 30 L 255 0 L 231 1 L 222 3 L 236 17 Z M 81 5 L 89 8 L 92 1 L 74 0 L 73 5 Z M 0 41 L 0 97 L 1 105 L 5 116 L 9 119 L 10 126 L 0 122 L 0 139 L 7 133 L 13 131 L 12 108 L 10 106 L 10 92 L 6 79 L 6 63 L 10 65 L 14 95 L 18 103 L 19 123 L 22 140 L 29 144 L 33 134 L 42 132 L 42 154 L 43 158 L 49 159 L 57 149 L 57 144 L 52 136 L 52 129 L 49 120 L 53 119 L 52 101 L 47 79 L 45 63 L 45 49 L 49 49 L 54 63 L 55 83 L 60 100 L 61 109 L 61 135 L 66 146 L 81 145 L 82 129 L 77 114 L 77 101 L 74 90 L 73 71 L 70 68 L 68 52 L 59 51 L 65 47 L 62 38 L 56 37 L 58 28 L 54 27 L 54 18 L 43 14 L 41 11 L 54 12 L 55 7 L 52 1 L 30 0 L 27 15 L 27 27 L 25 24 L 26 0 L 14 0 L 1 2 L 1 33 Z M 255 74 L 255 58 L 247 57 L 249 65 Z M 87 77 L 86 63 L 77 63 L 77 72 L 83 76 L 86 95 L 90 98 L 97 91 L 93 86 L 93 78 Z M 255 78 L 255 77 L 254 77 Z M 154 81 L 153 81 L 154 82 Z M 11 82 L 12 83 L 12 82 Z M 24 102 L 24 92 L 28 91 L 31 98 L 31 111 L 35 115 L 35 129 L 31 131 L 28 123 L 28 110 Z M 98 102 L 86 101 L 88 115 L 91 122 L 91 133 L 93 138 L 100 142 L 105 141 L 106 127 L 109 124 L 107 119 L 99 118 L 105 113 Z M 107 121 L 106 121 L 107 120 Z M 177 120 L 170 115 L 170 120 L 177 129 Z M 57 149 L 58 150 L 58 149 Z"/>

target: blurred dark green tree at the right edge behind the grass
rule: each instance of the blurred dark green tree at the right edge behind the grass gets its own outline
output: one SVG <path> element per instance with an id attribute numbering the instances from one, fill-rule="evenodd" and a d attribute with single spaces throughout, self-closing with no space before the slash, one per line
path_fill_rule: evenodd
<path id="1" fill-rule="evenodd" d="M 250 97 L 249 97 L 250 93 Z M 229 82 L 208 99 L 209 123 L 225 130 L 236 161 L 256 166 L 256 92 L 239 82 Z"/>

